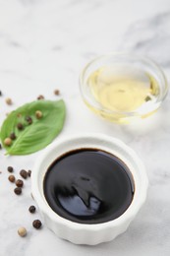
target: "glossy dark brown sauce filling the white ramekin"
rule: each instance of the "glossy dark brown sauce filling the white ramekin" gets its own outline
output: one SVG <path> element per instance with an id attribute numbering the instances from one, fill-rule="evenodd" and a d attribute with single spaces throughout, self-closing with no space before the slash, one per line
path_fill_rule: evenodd
<path id="1" fill-rule="evenodd" d="M 121 216 L 134 196 L 126 164 L 97 149 L 80 149 L 55 160 L 44 177 L 44 195 L 59 216 L 80 224 L 101 224 Z"/>

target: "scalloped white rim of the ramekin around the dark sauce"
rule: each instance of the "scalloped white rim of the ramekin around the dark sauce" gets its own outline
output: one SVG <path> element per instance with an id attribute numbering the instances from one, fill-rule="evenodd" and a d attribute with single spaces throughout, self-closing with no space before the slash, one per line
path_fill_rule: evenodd
<path id="1" fill-rule="evenodd" d="M 125 151 L 127 151 L 129 153 L 129 155 L 131 155 L 133 160 L 135 160 L 135 162 L 138 163 L 139 169 L 140 169 L 140 175 L 142 177 L 142 188 L 141 188 L 142 191 L 140 193 L 139 199 L 136 200 L 136 204 L 133 204 L 133 201 L 132 201 L 130 207 L 125 211 L 125 213 L 123 215 L 121 215 L 120 217 L 118 217 L 115 220 L 112 220 L 112 221 L 109 221 L 106 223 L 102 223 L 102 224 L 79 224 L 79 223 L 75 223 L 75 222 L 72 222 L 70 220 L 60 217 L 59 215 L 57 215 L 57 213 L 55 213 L 50 208 L 47 201 L 45 202 L 45 197 L 41 195 L 40 188 L 39 188 L 39 173 L 40 173 L 40 166 L 41 166 L 42 161 L 45 160 L 46 158 L 48 158 L 48 155 L 52 151 L 54 151 L 58 147 L 58 145 L 61 145 L 68 141 L 73 142 L 74 140 L 85 139 L 85 138 L 93 138 L 95 140 L 100 140 L 100 141 L 104 140 L 106 142 L 111 141 L 112 145 L 118 145 L 119 147 L 122 147 Z M 79 147 L 78 147 L 78 149 L 79 149 Z M 50 165 L 50 163 L 49 163 L 49 165 Z M 53 223 L 63 224 L 64 226 L 70 227 L 71 229 L 74 229 L 74 230 L 97 231 L 97 230 L 101 230 L 101 229 L 103 230 L 103 229 L 107 229 L 107 228 L 110 228 L 113 226 L 119 226 L 119 225 L 125 224 L 125 223 L 127 223 L 128 220 L 132 220 L 135 218 L 135 216 L 141 209 L 142 204 L 144 203 L 145 198 L 146 198 L 148 179 L 147 179 L 145 167 L 142 163 L 142 160 L 138 157 L 138 155 L 134 152 L 134 150 L 132 150 L 129 146 L 127 146 L 125 143 L 123 143 L 119 139 L 113 138 L 113 137 L 110 137 L 107 135 L 103 135 L 101 133 L 77 134 L 77 135 L 66 136 L 64 138 L 60 138 L 55 143 L 48 146 L 42 152 L 41 156 L 38 157 L 36 162 L 34 163 L 32 170 L 33 171 L 31 172 L 31 192 L 32 192 L 32 196 L 33 196 L 35 202 L 37 203 L 37 206 L 38 206 L 40 212 L 43 214 L 43 216 L 47 216 Z"/>

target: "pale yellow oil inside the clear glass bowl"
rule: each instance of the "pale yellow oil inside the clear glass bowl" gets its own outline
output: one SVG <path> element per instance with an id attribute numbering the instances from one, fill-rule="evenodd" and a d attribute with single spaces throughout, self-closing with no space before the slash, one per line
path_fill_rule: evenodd
<path id="1" fill-rule="evenodd" d="M 159 95 L 158 82 L 151 75 L 126 66 L 105 66 L 95 70 L 89 75 L 87 86 L 98 105 L 98 111 L 103 108 L 107 110 L 108 116 L 104 117 L 108 118 L 109 112 L 113 111 L 118 119 L 126 116 L 123 112 L 140 113 Z M 102 115 L 102 110 L 99 114 Z"/>

